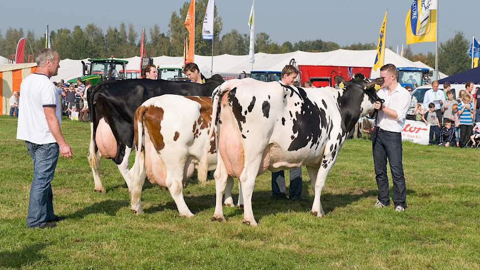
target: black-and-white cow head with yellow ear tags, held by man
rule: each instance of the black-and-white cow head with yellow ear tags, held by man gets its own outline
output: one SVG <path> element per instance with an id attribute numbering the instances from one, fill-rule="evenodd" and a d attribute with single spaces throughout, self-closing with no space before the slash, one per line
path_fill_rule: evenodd
<path id="1" fill-rule="evenodd" d="M 342 76 L 335 76 L 335 82 L 343 89 L 339 97 L 339 107 L 345 132 L 349 132 L 358 119 L 374 111 L 374 103 L 379 100 L 376 91 L 383 84 L 383 79 L 368 80 L 362 74 L 355 74 L 351 81 Z"/>

